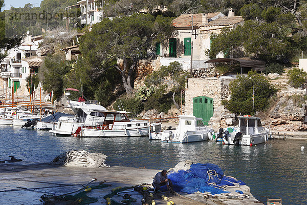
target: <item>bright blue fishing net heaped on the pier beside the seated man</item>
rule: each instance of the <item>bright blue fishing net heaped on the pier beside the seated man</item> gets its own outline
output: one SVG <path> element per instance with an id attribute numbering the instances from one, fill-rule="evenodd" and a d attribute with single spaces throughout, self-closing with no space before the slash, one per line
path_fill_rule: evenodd
<path id="1" fill-rule="evenodd" d="M 218 186 L 234 186 L 236 183 L 245 185 L 242 181 L 224 176 L 222 169 L 212 163 L 192 164 L 189 170 L 169 173 L 168 178 L 172 180 L 174 191 L 188 194 L 198 191 L 210 192 L 213 195 L 221 194 L 225 191 Z M 215 183 L 217 186 L 211 183 Z"/>

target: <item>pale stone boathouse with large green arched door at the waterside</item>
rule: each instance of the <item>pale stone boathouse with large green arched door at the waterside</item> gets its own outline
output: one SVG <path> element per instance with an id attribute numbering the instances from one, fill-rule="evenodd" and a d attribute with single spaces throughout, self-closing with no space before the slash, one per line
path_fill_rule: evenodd
<path id="1" fill-rule="evenodd" d="M 234 114 L 225 111 L 222 100 L 230 99 L 229 83 L 234 79 L 233 76 L 188 78 L 184 113 L 201 117 L 206 124 L 211 119 L 213 128 L 232 125 Z"/>

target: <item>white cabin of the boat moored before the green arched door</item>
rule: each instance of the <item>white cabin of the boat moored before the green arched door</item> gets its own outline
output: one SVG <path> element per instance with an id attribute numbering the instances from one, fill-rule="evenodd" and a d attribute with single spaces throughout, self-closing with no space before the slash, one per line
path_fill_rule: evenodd
<path id="1" fill-rule="evenodd" d="M 179 125 L 177 130 L 180 131 L 196 131 L 196 127 L 205 127 L 202 118 L 193 115 L 179 115 Z"/>

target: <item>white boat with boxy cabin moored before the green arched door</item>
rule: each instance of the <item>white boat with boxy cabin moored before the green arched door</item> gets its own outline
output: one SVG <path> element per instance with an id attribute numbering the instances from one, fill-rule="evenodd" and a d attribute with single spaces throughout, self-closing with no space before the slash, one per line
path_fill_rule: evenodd
<path id="1" fill-rule="evenodd" d="M 161 133 L 162 142 L 187 143 L 205 141 L 214 132 L 212 128 L 203 124 L 202 118 L 197 118 L 193 115 L 179 115 L 178 117 L 179 125 L 176 129 L 164 130 Z"/>

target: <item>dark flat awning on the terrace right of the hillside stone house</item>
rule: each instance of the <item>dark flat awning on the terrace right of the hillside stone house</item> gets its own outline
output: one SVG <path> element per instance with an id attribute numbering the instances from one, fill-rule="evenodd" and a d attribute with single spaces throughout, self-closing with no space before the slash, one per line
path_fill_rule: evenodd
<path id="1" fill-rule="evenodd" d="M 244 68 L 252 68 L 256 71 L 264 71 L 266 70 L 265 61 L 256 60 L 249 57 L 242 58 L 215 58 L 211 60 L 207 60 L 205 63 L 228 63 L 230 61 L 238 61 L 241 67 Z"/>

